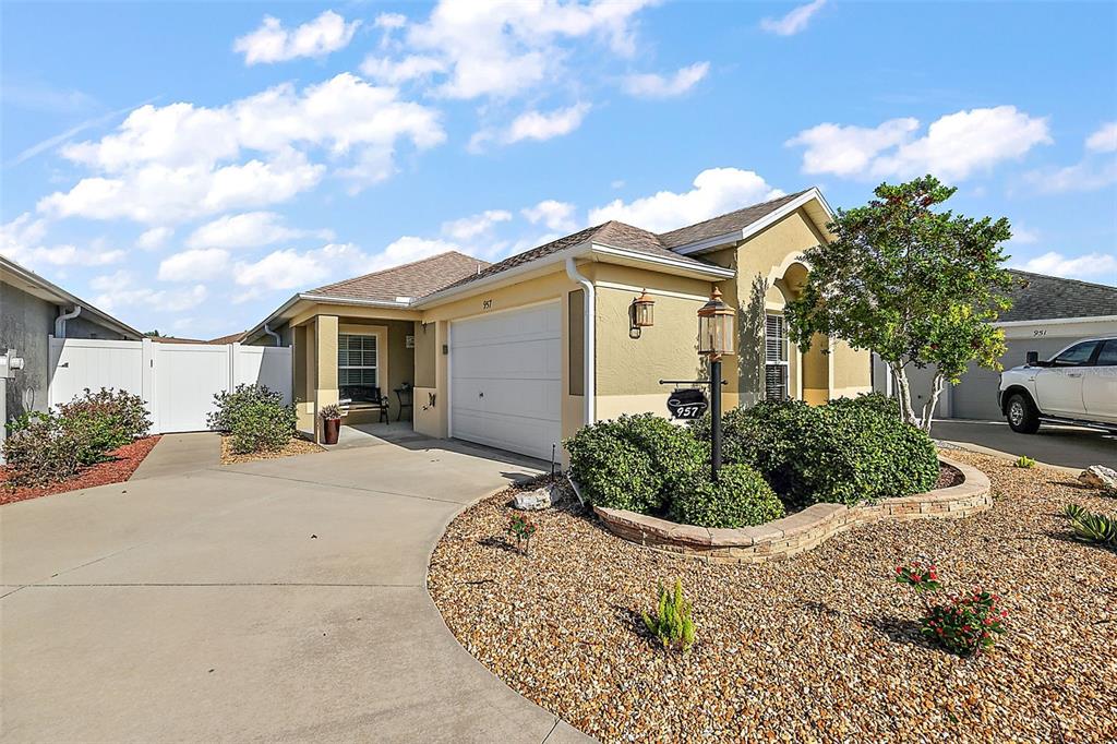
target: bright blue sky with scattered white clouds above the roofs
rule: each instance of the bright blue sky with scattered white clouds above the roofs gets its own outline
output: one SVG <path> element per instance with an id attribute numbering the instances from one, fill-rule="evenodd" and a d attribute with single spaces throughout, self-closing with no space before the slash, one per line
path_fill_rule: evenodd
<path id="1" fill-rule="evenodd" d="M 1117 4 L 6 2 L 0 252 L 141 330 L 926 172 L 1117 284 Z"/>

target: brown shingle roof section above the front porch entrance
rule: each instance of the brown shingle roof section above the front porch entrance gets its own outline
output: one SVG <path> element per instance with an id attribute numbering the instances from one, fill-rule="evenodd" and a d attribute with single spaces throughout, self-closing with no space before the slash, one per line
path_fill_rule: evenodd
<path id="1" fill-rule="evenodd" d="M 382 271 L 327 284 L 306 294 L 395 302 L 399 297 L 422 297 L 438 292 L 464 277 L 476 276 L 478 267 L 484 271 L 488 266 L 488 261 L 450 250 Z"/>

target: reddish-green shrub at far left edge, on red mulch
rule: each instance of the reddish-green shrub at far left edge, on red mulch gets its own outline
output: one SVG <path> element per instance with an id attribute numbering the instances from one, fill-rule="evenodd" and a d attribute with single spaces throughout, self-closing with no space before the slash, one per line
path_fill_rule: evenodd
<path id="1" fill-rule="evenodd" d="M 9 422 L 3 442 L 9 487 L 39 486 L 73 477 L 82 467 L 79 442 L 58 417 L 38 411 Z"/>

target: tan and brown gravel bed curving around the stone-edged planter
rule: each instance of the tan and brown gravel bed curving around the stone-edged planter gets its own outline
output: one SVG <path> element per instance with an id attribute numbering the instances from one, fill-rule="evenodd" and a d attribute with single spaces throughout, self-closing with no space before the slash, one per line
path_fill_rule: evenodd
<path id="1" fill-rule="evenodd" d="M 982 455 L 995 503 L 964 519 L 882 522 L 761 565 L 707 565 L 605 532 L 574 506 L 505 536 L 513 492 L 459 515 L 428 584 L 461 645 L 522 695 L 602 742 L 1115 742 L 1117 553 L 1078 543 L 1068 502 L 1117 500 L 1048 468 Z M 947 591 L 1003 595 L 1008 633 L 963 659 L 928 646 L 895 566 L 935 562 Z M 681 579 L 697 643 L 643 630 Z"/>

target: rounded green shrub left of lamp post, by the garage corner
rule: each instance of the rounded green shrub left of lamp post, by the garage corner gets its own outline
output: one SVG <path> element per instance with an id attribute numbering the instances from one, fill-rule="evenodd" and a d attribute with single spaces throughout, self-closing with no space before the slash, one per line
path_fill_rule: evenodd
<path id="1" fill-rule="evenodd" d="M 651 413 L 583 427 L 564 445 L 591 504 L 641 514 L 662 514 L 675 483 L 708 457 L 688 429 Z"/>

